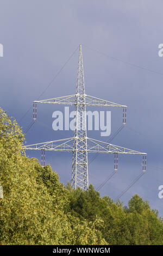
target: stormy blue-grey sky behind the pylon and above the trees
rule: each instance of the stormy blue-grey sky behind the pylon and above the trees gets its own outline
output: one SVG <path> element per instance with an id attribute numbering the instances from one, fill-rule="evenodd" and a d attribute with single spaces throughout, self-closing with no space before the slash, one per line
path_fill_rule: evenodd
<path id="1" fill-rule="evenodd" d="M 0 58 L 1 107 L 20 120 L 83 44 L 86 93 L 128 106 L 127 126 L 112 143 L 148 153 L 146 175 L 121 199 L 126 203 L 137 192 L 160 214 L 163 199 L 158 198 L 158 187 L 163 184 L 163 169 L 152 166 L 163 168 L 163 75 L 109 59 L 88 47 L 163 74 L 163 57 L 158 56 L 158 45 L 163 42 L 162 5 L 162 1 L 149 0 L 0 1 L 0 43 L 4 46 L 4 57 Z M 73 94 L 77 64 L 78 51 L 41 99 Z M 46 127 L 36 123 L 27 134 L 27 144 L 72 135 L 52 130 L 52 113 L 62 109 L 39 105 L 38 120 Z M 20 123 L 23 130 L 31 121 L 30 111 Z M 112 132 L 121 123 L 121 109 L 112 111 Z M 88 135 L 106 140 L 99 132 Z M 37 157 L 34 151 L 27 155 Z M 49 153 L 46 157 L 46 163 L 65 184 L 71 176 L 71 157 L 68 153 Z M 141 157 L 121 156 L 117 174 L 102 188 L 101 195 L 115 198 L 141 172 L 141 161 Z M 90 182 L 96 188 L 113 168 L 112 156 L 98 156 L 89 166 Z"/>

